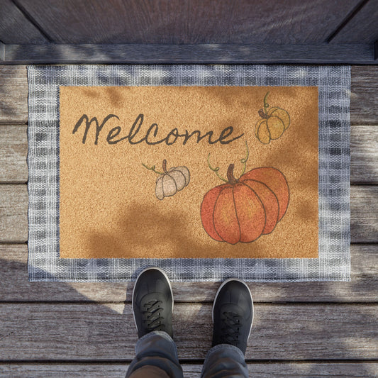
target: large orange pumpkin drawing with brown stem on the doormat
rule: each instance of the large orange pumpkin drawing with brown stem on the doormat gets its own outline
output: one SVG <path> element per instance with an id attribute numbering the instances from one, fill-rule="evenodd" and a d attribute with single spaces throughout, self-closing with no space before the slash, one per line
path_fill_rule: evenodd
<path id="1" fill-rule="evenodd" d="M 289 187 L 284 174 L 274 167 L 252 169 L 239 179 L 233 169 L 230 164 L 226 184 L 205 194 L 202 225 L 214 240 L 250 243 L 271 233 L 282 219 L 289 204 Z"/>

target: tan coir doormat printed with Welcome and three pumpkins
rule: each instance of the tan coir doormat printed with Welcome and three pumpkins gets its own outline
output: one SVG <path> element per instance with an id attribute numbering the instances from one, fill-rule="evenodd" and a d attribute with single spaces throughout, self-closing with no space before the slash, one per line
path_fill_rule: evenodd
<path id="1" fill-rule="evenodd" d="M 318 88 L 60 87 L 60 257 L 318 257 Z"/>

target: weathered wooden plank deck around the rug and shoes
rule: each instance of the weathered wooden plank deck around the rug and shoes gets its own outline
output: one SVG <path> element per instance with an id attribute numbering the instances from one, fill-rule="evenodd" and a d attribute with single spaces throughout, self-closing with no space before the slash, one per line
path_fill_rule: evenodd
<path id="1" fill-rule="evenodd" d="M 28 282 L 25 66 L 0 67 L 0 377 L 124 377 L 133 284 Z M 378 67 L 353 66 L 352 281 L 250 284 L 251 377 L 378 377 Z M 173 283 L 186 377 L 211 345 L 219 283 Z"/>

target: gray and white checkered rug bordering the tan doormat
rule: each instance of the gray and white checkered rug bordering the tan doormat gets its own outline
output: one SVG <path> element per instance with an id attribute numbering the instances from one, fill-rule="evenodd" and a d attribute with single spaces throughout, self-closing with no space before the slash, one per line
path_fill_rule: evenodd
<path id="1" fill-rule="evenodd" d="M 28 84 L 30 281 L 128 281 L 148 266 L 186 282 L 350 279 L 349 66 L 30 66 Z M 318 87 L 318 259 L 60 259 L 59 87 L 142 85 Z"/>

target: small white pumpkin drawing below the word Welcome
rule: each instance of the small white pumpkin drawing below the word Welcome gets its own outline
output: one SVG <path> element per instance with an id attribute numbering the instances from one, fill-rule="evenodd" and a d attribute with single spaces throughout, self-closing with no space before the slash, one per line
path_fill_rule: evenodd
<path id="1" fill-rule="evenodd" d="M 157 199 L 162 200 L 164 197 L 174 196 L 177 191 L 184 189 L 189 184 L 190 172 L 187 167 L 172 167 L 167 170 L 167 160 L 163 160 L 162 162 L 163 172 L 157 172 L 155 165 L 147 167 L 143 164 L 143 166 L 159 174 L 155 187 Z"/>

